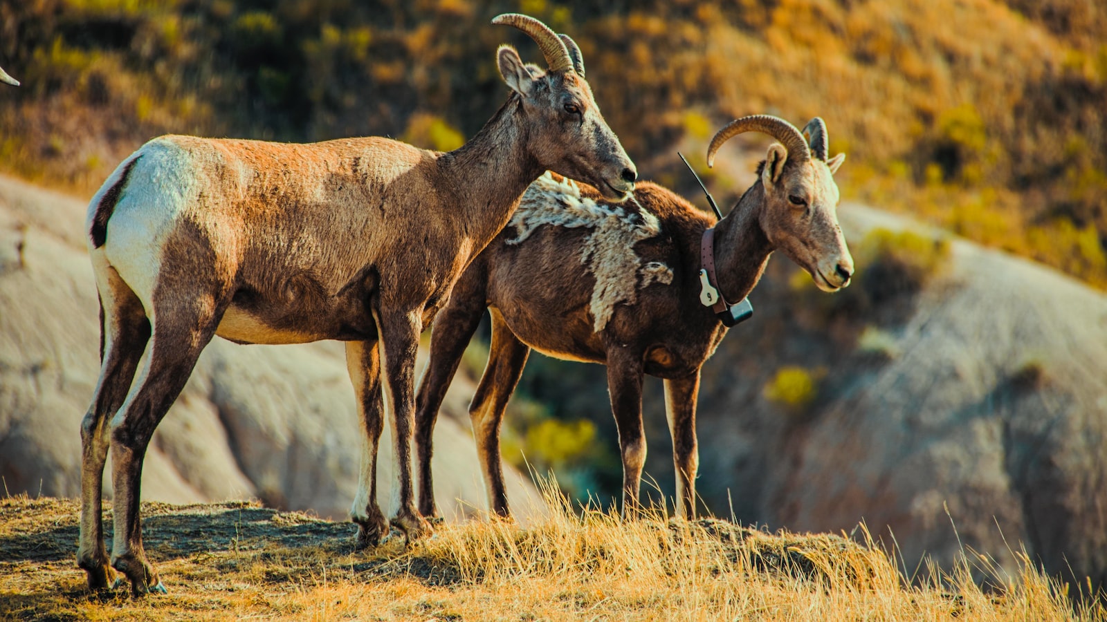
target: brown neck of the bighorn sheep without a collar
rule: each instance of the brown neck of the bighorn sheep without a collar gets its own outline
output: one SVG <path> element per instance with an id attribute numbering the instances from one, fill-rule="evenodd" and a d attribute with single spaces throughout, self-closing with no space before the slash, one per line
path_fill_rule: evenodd
<path id="1" fill-rule="evenodd" d="M 525 124 L 518 95 L 513 95 L 476 136 L 438 158 L 439 170 L 457 191 L 449 217 L 476 242 L 476 252 L 507 226 L 519 197 L 544 173 L 527 148 Z"/>

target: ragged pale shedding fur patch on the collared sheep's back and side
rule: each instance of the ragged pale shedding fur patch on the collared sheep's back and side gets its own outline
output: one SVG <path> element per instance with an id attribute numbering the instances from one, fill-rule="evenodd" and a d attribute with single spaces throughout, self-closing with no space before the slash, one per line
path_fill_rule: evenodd
<path id="1" fill-rule="evenodd" d="M 628 211 L 601 205 L 580 195 L 571 179 L 558 182 L 546 173 L 527 188 L 508 226 L 515 227 L 518 245 L 542 225 L 592 229 L 581 247 L 580 262 L 596 277 L 589 311 L 592 330 L 602 331 L 619 303 L 638 303 L 638 290 L 651 283 L 673 282 L 673 271 L 660 261 L 642 265 L 634 245 L 661 232 L 658 217 L 645 209 Z"/>

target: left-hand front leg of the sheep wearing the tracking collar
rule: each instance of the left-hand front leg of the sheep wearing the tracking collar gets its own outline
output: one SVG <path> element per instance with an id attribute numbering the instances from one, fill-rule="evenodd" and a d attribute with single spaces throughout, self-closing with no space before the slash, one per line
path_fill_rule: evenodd
<path id="1" fill-rule="evenodd" d="M 639 510 L 638 491 L 645 465 L 645 431 L 642 428 L 642 356 L 621 346 L 608 348 L 608 391 L 611 412 L 619 428 L 623 463 L 623 516 Z"/>

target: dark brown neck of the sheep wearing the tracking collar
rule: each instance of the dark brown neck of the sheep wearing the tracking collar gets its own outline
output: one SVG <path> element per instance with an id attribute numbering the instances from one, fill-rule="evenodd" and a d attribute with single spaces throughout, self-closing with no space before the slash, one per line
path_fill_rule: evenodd
<path id="1" fill-rule="evenodd" d="M 730 303 L 749 296 L 773 252 L 761 227 L 765 191 L 758 179 L 731 212 L 715 225 L 715 276 L 720 293 Z"/>

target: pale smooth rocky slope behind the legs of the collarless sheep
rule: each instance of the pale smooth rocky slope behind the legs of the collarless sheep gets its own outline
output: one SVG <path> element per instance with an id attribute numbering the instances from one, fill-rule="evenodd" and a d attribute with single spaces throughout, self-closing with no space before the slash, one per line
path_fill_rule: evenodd
<path id="1" fill-rule="evenodd" d="M 100 367 L 84 210 L 83 201 L 0 177 L 0 477 L 11 495 L 80 491 L 79 426 Z M 456 385 L 446 411 L 464 413 L 470 394 L 472 386 Z M 435 436 L 435 490 L 447 515 L 485 507 L 476 449 L 459 421 L 445 417 Z M 382 507 L 392 481 L 387 435 Z M 256 497 L 342 518 L 359 452 L 341 344 L 238 346 L 217 339 L 154 435 L 143 499 Z M 517 471 L 509 479 L 516 507 L 537 498 Z"/>

